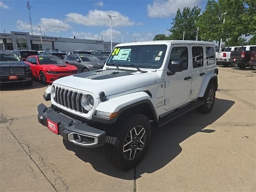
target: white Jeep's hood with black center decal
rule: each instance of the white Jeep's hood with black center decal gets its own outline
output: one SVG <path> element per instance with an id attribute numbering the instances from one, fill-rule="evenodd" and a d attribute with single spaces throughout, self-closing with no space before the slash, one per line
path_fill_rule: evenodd
<path id="1" fill-rule="evenodd" d="M 107 69 L 60 78 L 54 81 L 54 84 L 91 92 L 99 98 L 99 93 L 102 91 L 106 96 L 110 96 L 154 84 L 154 79 L 149 72 Z"/>

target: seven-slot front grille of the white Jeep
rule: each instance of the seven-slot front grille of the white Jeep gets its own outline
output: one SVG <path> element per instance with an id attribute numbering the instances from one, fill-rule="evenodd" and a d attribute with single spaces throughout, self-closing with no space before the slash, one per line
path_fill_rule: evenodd
<path id="1" fill-rule="evenodd" d="M 54 101 L 66 108 L 80 113 L 88 113 L 82 106 L 82 97 L 84 94 L 74 92 L 61 87 L 56 87 Z"/>

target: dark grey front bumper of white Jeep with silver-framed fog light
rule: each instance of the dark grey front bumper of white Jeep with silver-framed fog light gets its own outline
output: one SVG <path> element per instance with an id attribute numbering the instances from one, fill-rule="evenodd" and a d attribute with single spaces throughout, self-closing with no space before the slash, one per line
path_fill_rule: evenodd
<path id="1" fill-rule="evenodd" d="M 51 120 L 52 122 L 55 122 L 58 125 L 59 134 L 66 141 L 84 147 L 102 146 L 106 142 L 106 132 L 102 130 L 88 126 L 88 124 L 83 123 L 80 120 L 66 116 L 61 112 L 56 112 L 53 108 L 46 107 L 42 103 L 38 105 L 37 110 L 38 122 L 43 126 L 48 126 L 47 119 Z M 93 142 L 78 142 L 75 139 L 77 135 L 82 136 L 86 140 L 93 140 Z"/>

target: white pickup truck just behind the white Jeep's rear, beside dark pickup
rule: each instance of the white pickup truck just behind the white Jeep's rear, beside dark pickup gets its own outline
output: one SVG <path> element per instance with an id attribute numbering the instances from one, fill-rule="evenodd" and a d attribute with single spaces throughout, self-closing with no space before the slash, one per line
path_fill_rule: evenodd
<path id="1" fill-rule="evenodd" d="M 236 47 L 226 47 L 223 52 L 216 52 L 217 64 L 222 64 L 223 66 L 237 67 L 237 64 L 230 61 L 230 53 L 231 51 L 236 51 L 238 46 Z"/>

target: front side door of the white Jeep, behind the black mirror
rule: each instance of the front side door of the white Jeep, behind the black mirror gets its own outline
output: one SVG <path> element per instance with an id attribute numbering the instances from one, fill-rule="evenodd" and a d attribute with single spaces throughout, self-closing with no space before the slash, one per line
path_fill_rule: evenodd
<path id="1" fill-rule="evenodd" d="M 183 60 L 183 71 L 165 74 L 164 109 L 178 107 L 186 103 L 190 94 L 191 65 L 188 65 L 188 46 L 180 45 L 172 48 L 169 64 L 172 60 Z M 166 72 L 170 71 L 166 68 Z"/>

